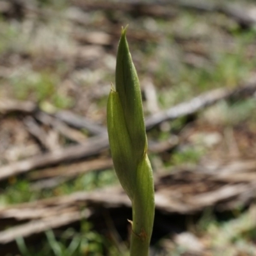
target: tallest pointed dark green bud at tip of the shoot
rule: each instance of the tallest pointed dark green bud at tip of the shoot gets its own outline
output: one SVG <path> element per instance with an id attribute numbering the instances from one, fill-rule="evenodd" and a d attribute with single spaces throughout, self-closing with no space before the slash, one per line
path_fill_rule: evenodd
<path id="1" fill-rule="evenodd" d="M 126 29 L 122 29 L 116 57 L 116 92 L 119 94 L 120 102 L 124 109 L 125 123 L 134 150 L 134 160 L 138 163 L 147 151 L 147 137 L 140 82 L 132 63 L 125 35 Z"/>

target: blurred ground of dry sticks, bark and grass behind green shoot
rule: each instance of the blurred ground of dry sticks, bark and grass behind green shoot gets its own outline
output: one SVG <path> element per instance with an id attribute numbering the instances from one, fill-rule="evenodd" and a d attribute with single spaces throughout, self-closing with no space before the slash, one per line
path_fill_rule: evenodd
<path id="1" fill-rule="evenodd" d="M 253 0 L 0 1 L 0 254 L 128 255 L 106 103 L 122 26 L 154 169 L 151 255 L 256 255 Z"/>

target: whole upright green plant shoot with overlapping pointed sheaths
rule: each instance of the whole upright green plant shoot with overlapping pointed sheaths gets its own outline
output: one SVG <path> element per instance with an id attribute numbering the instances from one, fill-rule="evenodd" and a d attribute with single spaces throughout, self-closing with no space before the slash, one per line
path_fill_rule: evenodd
<path id="1" fill-rule="evenodd" d="M 108 134 L 116 175 L 132 202 L 131 256 L 148 256 L 154 223 L 154 181 L 147 157 L 147 134 L 140 83 L 125 37 L 118 45 L 116 90 L 108 99 Z"/>

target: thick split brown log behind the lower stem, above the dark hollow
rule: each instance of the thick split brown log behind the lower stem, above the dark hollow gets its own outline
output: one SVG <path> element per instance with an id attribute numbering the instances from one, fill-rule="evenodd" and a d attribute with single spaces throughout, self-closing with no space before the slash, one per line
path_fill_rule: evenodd
<path id="1" fill-rule="evenodd" d="M 227 163 L 222 169 L 218 167 L 208 170 L 205 166 L 202 172 L 201 166 L 198 170 L 184 169 L 158 175 L 155 179 L 156 210 L 165 214 L 193 214 L 204 211 L 209 206 L 222 211 L 237 209 L 237 205 L 240 207 L 248 205 L 248 200 L 252 202 L 256 196 L 256 177 L 234 182 L 234 177 L 240 175 L 236 166 L 239 166 L 240 172 L 243 170 L 244 175 L 256 172 L 256 161 L 236 161 Z M 225 177 L 223 170 L 226 170 Z M 222 182 L 220 182 L 221 177 L 223 177 Z M 81 212 L 84 207 L 86 211 Z M 16 224 L 20 221 L 22 224 L 1 231 L 0 244 L 10 243 L 19 236 L 27 237 L 49 228 L 73 223 L 81 220 L 84 214 L 91 216 L 94 209 L 99 207 L 114 211 L 120 207 L 131 207 L 131 202 L 118 186 L 1 208 L 1 223 L 16 220 Z M 99 214 L 97 216 L 100 218 Z"/>

